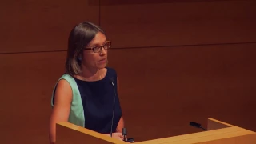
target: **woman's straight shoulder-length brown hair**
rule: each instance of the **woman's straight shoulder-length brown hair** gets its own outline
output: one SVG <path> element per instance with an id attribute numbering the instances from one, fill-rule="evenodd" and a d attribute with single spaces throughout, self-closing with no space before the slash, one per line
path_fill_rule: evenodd
<path id="1" fill-rule="evenodd" d="M 105 34 L 101 28 L 91 22 L 82 22 L 74 26 L 68 40 L 66 74 L 74 76 L 81 73 L 81 59 L 79 60 L 78 57 L 82 58 L 82 49 L 94 39 L 98 32 Z"/>

